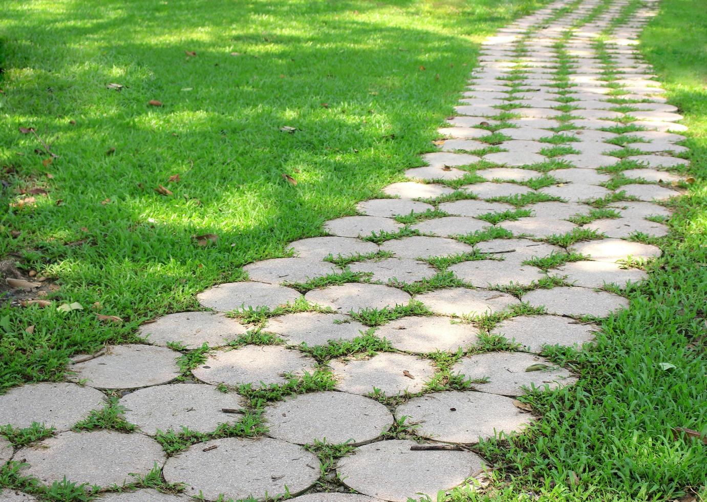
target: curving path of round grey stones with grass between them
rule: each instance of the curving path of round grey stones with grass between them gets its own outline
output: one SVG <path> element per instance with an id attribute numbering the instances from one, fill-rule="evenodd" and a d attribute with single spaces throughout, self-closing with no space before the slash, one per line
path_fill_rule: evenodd
<path id="1" fill-rule="evenodd" d="M 633 49 L 655 1 L 634 7 L 559 0 L 499 30 L 407 181 L 199 294 L 215 312 L 0 395 L 0 425 L 54 428 L 0 436 L 0 464 L 105 501 L 406 501 L 469 482 L 475 443 L 542 419 L 515 397 L 576 381 L 544 347 L 591 342 L 668 233 L 684 127 Z M 85 425 L 110 411 L 134 430 Z M 111 489 L 153 469 L 184 491 Z"/>

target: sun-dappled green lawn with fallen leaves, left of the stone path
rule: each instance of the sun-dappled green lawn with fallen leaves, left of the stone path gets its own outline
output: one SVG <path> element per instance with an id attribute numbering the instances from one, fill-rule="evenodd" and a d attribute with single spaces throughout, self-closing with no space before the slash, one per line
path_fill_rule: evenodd
<path id="1" fill-rule="evenodd" d="M 433 148 L 477 43 L 543 3 L 4 2 L 0 257 L 58 284 L 49 300 L 100 301 L 125 322 L 4 304 L 0 388 L 136 341 L 140 322 L 198 308 L 199 291 L 401 180 Z M 59 157 L 43 165 L 20 127 Z M 32 187 L 48 194 L 10 209 Z M 204 233 L 217 242 L 197 245 Z"/>

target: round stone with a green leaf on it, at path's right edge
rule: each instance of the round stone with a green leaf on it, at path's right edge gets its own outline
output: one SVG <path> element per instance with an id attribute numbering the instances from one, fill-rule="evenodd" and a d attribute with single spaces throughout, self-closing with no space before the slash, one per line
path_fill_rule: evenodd
<path id="1" fill-rule="evenodd" d="M 528 368 L 531 370 L 526 371 Z M 523 387 L 549 390 L 577 381 L 568 370 L 525 352 L 476 354 L 461 358 L 452 369 L 471 380 L 489 378 L 487 383 L 475 383 L 474 387 L 481 392 L 502 396 L 520 396 L 525 392 Z"/>

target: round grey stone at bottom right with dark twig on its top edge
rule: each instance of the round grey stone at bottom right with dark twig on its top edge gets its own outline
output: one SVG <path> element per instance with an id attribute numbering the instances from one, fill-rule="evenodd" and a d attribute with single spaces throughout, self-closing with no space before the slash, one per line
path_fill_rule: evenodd
<path id="1" fill-rule="evenodd" d="M 384 501 L 407 502 L 462 484 L 481 470 L 481 457 L 460 451 L 414 451 L 411 440 L 363 445 L 339 460 L 337 474 L 349 488 Z"/>

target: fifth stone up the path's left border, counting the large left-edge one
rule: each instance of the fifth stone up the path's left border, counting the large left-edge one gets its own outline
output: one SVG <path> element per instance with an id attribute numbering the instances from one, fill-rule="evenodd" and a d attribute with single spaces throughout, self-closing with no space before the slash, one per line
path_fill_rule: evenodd
<path id="1" fill-rule="evenodd" d="M 267 284 L 307 282 L 316 277 L 339 274 L 341 269 L 327 262 L 312 258 L 273 258 L 247 264 L 243 271 L 251 281 Z"/>

